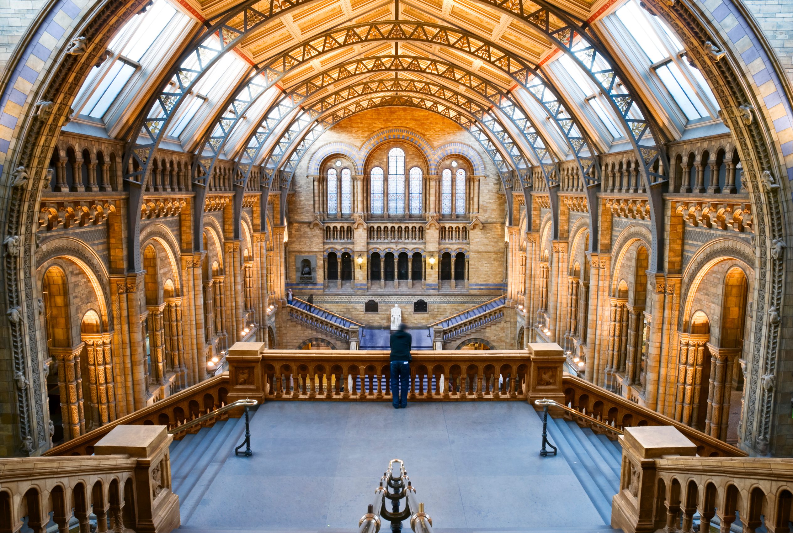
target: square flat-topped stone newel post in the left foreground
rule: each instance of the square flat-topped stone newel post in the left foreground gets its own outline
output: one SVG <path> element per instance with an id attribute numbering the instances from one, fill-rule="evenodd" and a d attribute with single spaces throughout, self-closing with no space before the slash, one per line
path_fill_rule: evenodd
<path id="1" fill-rule="evenodd" d="M 137 458 L 135 531 L 139 533 L 169 533 L 180 525 L 179 497 L 170 490 L 168 447 L 173 439 L 167 426 L 121 425 L 94 446 L 95 455 Z"/>

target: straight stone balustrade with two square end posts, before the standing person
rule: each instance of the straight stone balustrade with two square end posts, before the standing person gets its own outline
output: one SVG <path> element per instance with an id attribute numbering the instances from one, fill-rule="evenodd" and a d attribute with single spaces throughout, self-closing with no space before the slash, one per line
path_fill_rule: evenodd
<path id="1" fill-rule="evenodd" d="M 382 401 L 390 395 L 388 351 L 266 350 L 263 343 L 236 343 L 226 359 L 233 383 L 228 401 Z M 562 401 L 564 361 L 556 343 L 532 343 L 528 351 L 414 351 L 408 398 Z"/>

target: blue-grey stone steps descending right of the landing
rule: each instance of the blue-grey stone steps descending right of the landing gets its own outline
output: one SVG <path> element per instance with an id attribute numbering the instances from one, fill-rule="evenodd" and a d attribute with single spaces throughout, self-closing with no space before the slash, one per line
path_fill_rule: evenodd
<path id="1" fill-rule="evenodd" d="M 538 411 L 542 418 L 542 412 Z M 603 522 L 611 523 L 611 498 L 619 492 L 623 450 L 619 443 L 572 420 L 548 416 L 551 443 L 568 462 Z"/>

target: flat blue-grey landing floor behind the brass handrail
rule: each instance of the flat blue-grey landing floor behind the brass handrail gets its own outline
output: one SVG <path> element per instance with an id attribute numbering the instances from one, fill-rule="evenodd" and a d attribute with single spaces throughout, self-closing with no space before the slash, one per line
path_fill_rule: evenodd
<path id="1" fill-rule="evenodd" d="M 541 431 L 519 401 L 268 402 L 251 419 L 253 457 L 220 459 L 182 525 L 356 530 L 400 458 L 438 530 L 607 528 L 565 458 L 539 456 Z"/>

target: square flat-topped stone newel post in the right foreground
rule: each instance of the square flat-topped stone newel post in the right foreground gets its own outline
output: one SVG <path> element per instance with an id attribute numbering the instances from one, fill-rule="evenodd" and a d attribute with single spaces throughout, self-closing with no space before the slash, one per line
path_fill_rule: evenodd
<path id="1" fill-rule="evenodd" d="M 625 428 L 619 493 L 611 500 L 611 527 L 626 533 L 656 531 L 655 459 L 664 455 L 693 457 L 696 446 L 673 426 Z"/>

